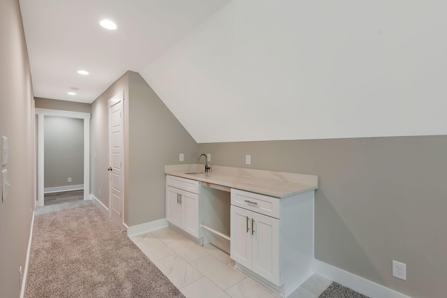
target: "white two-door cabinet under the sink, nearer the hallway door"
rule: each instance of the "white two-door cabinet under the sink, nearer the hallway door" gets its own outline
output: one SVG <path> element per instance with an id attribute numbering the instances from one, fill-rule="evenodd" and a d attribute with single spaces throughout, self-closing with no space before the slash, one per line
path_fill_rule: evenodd
<path id="1" fill-rule="evenodd" d="M 166 219 L 169 223 L 198 238 L 199 181 L 166 176 Z"/>

